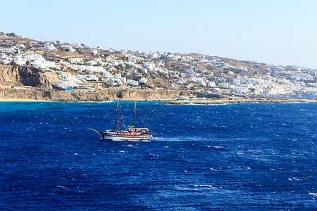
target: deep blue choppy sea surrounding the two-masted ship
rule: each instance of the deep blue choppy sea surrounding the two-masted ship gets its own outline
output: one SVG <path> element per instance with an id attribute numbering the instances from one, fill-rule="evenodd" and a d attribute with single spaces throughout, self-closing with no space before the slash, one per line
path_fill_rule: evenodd
<path id="1" fill-rule="evenodd" d="M 133 124 L 120 102 L 120 127 Z M 0 102 L 2 210 L 317 210 L 317 103 Z"/>

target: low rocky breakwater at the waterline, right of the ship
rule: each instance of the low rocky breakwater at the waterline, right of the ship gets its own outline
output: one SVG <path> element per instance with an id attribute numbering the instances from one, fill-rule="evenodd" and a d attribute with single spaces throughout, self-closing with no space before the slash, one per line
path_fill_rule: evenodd
<path id="1" fill-rule="evenodd" d="M 237 100 L 185 100 L 185 101 L 163 101 L 160 104 L 168 105 L 225 105 L 231 103 L 306 103 L 304 100 L 288 99 L 288 100 L 255 100 L 255 99 L 237 99 Z"/>

